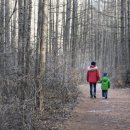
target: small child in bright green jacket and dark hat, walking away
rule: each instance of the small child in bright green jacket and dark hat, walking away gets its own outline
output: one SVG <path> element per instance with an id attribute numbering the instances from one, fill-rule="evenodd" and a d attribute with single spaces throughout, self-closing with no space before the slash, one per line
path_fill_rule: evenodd
<path id="1" fill-rule="evenodd" d="M 102 97 L 105 97 L 105 99 L 107 99 L 108 89 L 110 88 L 110 80 L 106 72 L 103 73 L 99 83 L 101 83 Z"/>

